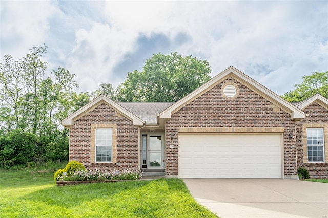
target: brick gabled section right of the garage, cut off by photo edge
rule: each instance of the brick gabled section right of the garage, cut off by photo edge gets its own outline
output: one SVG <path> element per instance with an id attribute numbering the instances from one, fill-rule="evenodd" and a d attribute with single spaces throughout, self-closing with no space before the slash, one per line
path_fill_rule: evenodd
<path id="1" fill-rule="evenodd" d="M 306 113 L 306 118 L 296 123 L 297 164 L 312 176 L 327 176 L 328 100 L 316 94 L 296 106 Z"/>

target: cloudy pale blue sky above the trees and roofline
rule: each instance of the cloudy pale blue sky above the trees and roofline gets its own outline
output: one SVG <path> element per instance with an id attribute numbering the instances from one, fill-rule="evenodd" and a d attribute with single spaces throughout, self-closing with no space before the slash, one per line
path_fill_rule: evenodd
<path id="1" fill-rule="evenodd" d="M 328 1 L 4 1 L 0 56 L 48 46 L 48 70 L 76 74 L 77 92 L 114 87 L 153 54 L 234 66 L 282 95 L 328 71 Z"/>

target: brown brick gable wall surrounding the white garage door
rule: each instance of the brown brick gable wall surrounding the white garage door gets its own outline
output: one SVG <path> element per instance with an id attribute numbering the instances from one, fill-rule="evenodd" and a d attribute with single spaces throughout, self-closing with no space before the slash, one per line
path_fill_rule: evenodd
<path id="1" fill-rule="evenodd" d="M 227 99 L 221 93 L 224 84 L 236 84 L 239 94 Z M 232 77 L 214 86 L 191 103 L 182 107 L 166 121 L 166 174 L 178 175 L 178 128 L 183 127 L 283 127 L 284 174 L 297 174 L 295 123 L 291 116 L 280 110 L 268 100 L 259 96 L 247 86 Z M 170 133 L 174 133 L 173 140 Z M 173 145 L 174 148 L 170 148 Z"/>

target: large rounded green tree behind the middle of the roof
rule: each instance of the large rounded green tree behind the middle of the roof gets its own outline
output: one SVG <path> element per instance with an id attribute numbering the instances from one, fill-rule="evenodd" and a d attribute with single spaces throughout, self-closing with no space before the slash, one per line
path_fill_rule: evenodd
<path id="1" fill-rule="evenodd" d="M 153 55 L 144 70 L 128 73 L 117 89 L 118 101 L 174 102 L 211 79 L 207 61 L 177 53 Z"/>

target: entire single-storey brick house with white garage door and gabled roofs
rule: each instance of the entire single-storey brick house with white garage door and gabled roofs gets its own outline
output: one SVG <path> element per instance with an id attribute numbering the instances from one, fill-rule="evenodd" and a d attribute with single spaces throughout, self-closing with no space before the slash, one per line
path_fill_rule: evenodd
<path id="1" fill-rule="evenodd" d="M 61 124 L 70 128 L 69 160 L 87 169 L 297 179 L 304 166 L 328 175 L 328 99 L 294 105 L 232 66 L 176 103 L 100 95 Z"/>

